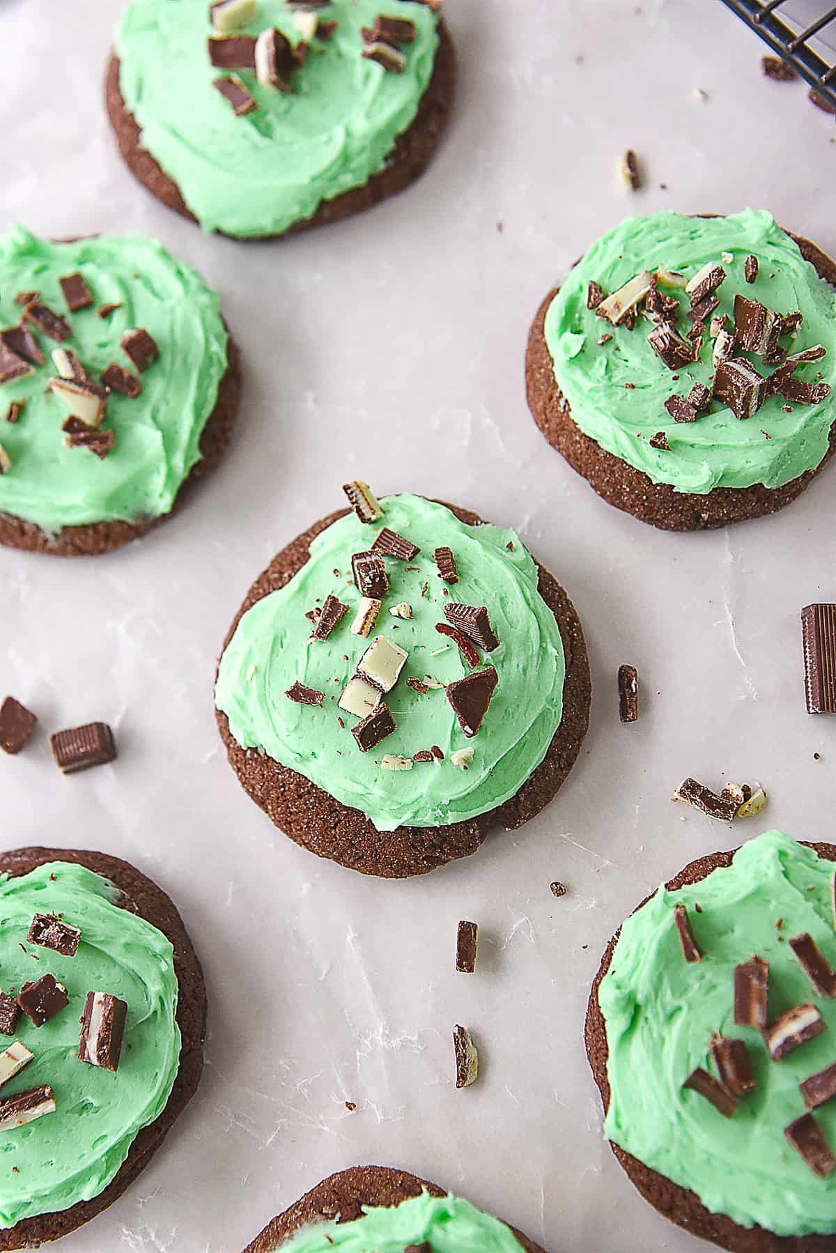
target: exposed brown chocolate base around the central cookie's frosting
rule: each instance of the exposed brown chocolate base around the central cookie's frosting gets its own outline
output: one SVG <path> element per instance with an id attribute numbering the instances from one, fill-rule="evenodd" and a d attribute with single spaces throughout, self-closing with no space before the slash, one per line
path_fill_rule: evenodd
<path id="1" fill-rule="evenodd" d="M 481 521 L 470 510 L 455 505 L 447 505 L 447 509 L 470 526 Z M 242 615 L 262 596 L 283 588 L 311 555 L 311 541 L 346 512 L 341 509 L 323 517 L 273 558 L 247 593 L 223 643 L 224 649 Z M 538 570 L 540 595 L 555 616 L 565 652 L 563 718 L 545 758 L 516 796 L 495 809 L 447 827 L 377 831 L 360 809 L 348 808 L 266 753 L 242 748 L 229 730 L 227 715 L 216 709 L 229 764 L 244 791 L 297 845 L 318 857 L 328 857 L 341 866 L 382 878 L 426 875 L 449 861 L 475 853 L 493 827 L 501 826 L 506 831 L 521 827 L 551 799 L 574 766 L 587 734 L 592 699 L 587 644 L 574 605 L 548 570 L 539 564 Z"/>

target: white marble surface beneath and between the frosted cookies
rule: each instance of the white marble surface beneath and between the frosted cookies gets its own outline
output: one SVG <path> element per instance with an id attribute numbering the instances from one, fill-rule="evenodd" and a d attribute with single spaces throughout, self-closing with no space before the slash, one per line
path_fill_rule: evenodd
<path id="1" fill-rule="evenodd" d="M 602 1141 L 588 987 L 620 918 L 692 857 L 767 826 L 832 834 L 836 722 L 805 712 L 798 610 L 836 598 L 836 471 L 777 517 L 657 533 L 544 444 L 523 352 L 548 287 L 632 211 L 770 207 L 836 252 L 833 120 L 800 84 L 761 78 L 760 44 L 714 0 L 449 0 L 459 96 L 424 180 L 328 231 L 238 244 L 168 213 L 120 164 L 100 103 L 119 10 L 0 0 L 1 223 L 158 236 L 223 293 L 246 388 L 222 469 L 148 540 L 81 563 L 0 551 L 0 688 L 40 718 L 0 763 L 3 841 L 102 848 L 157 878 L 211 997 L 197 1098 L 64 1247 L 237 1253 L 320 1178 L 372 1160 L 462 1192 L 550 1253 L 691 1253 Z M 614 175 L 628 145 L 648 175 L 629 199 Z M 252 578 L 353 476 L 515 526 L 573 596 L 595 685 L 556 801 L 406 882 L 276 832 L 212 714 Z M 617 717 L 624 660 L 643 683 L 633 727 Z M 119 761 L 63 778 L 46 733 L 89 718 L 114 725 Z M 683 813 L 668 797 L 686 774 L 761 779 L 768 809 L 734 831 Z M 452 970 L 460 917 L 481 926 L 474 977 Z M 454 1022 L 481 1048 L 466 1091 Z"/>

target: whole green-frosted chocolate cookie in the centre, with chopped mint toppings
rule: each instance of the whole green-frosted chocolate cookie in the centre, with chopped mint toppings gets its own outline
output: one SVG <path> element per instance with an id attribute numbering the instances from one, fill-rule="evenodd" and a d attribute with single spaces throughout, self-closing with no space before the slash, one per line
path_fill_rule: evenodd
<path id="1" fill-rule="evenodd" d="M 555 794 L 587 732 L 587 648 L 514 531 L 346 490 L 356 509 L 316 523 L 251 588 L 217 718 L 287 836 L 368 875 L 421 875 Z"/>

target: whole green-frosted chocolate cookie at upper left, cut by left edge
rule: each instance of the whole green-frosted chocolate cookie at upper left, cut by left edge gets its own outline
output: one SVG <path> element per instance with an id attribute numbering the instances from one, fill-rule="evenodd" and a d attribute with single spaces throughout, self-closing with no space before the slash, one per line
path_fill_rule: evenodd
<path id="1" fill-rule="evenodd" d="M 238 405 L 219 302 L 142 236 L 0 236 L 0 543 L 144 535 L 212 470 Z"/>

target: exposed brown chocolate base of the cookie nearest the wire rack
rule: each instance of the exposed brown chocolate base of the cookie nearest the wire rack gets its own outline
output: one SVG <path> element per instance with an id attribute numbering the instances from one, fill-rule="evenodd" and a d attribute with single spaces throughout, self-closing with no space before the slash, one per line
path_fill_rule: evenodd
<path id="1" fill-rule="evenodd" d="M 788 233 L 788 232 L 787 232 Z M 825 282 L 836 287 L 836 262 L 816 244 L 798 236 L 791 236 L 802 257 L 808 261 Z M 642 470 L 602 449 L 585 435 L 572 419 L 569 403 L 554 377 L 554 362 L 544 335 L 545 315 L 558 294 L 553 288 L 536 311 L 525 355 L 525 393 L 534 421 L 553 449 L 556 449 L 573 470 L 582 475 L 590 487 L 617 509 L 633 514 L 643 523 L 663 531 L 697 531 L 747 517 L 775 514 L 800 496 L 817 474 L 823 470 L 836 452 L 836 422 L 830 429 L 830 446 L 815 470 L 807 470 L 781 487 L 714 487 L 704 495 L 674 491 L 669 484 L 653 482 Z"/>

